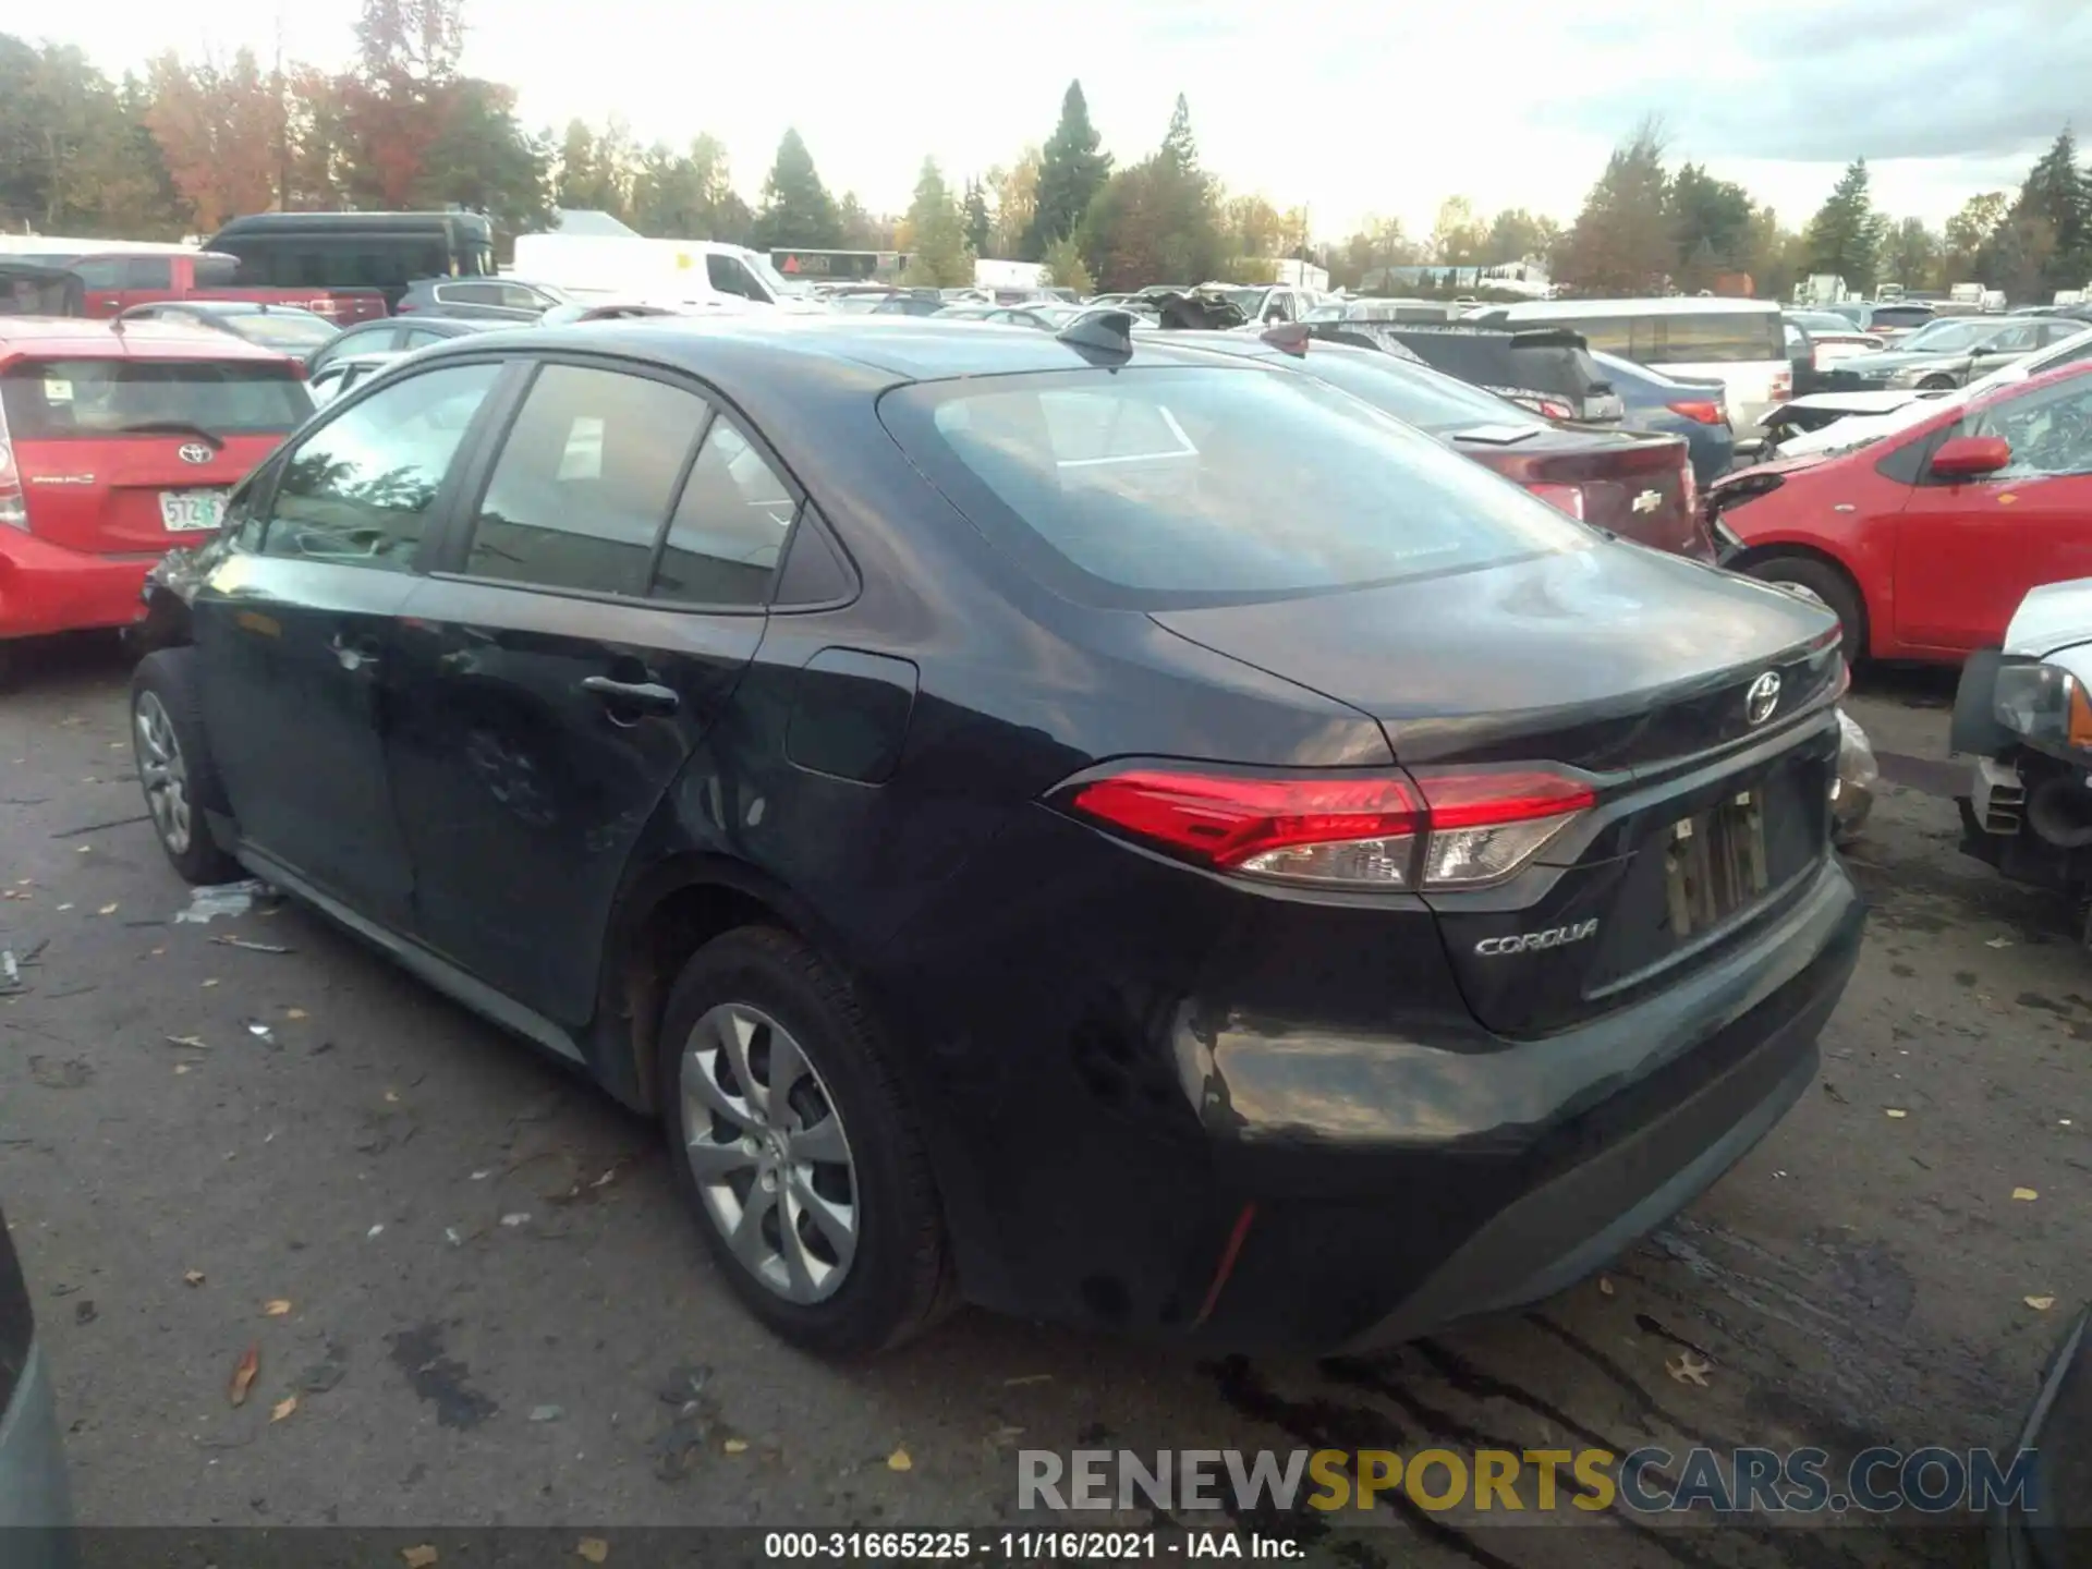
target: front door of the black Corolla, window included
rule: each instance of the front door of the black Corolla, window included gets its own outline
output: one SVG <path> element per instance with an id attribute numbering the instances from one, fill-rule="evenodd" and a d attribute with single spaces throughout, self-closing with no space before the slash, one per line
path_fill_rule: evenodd
<path id="1" fill-rule="evenodd" d="M 195 605 L 213 761 L 245 843 L 406 929 L 412 874 L 385 778 L 393 619 L 500 364 L 425 370 L 297 441 L 257 496 L 255 548 Z"/>

